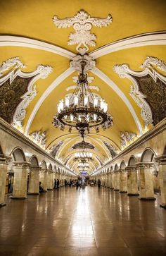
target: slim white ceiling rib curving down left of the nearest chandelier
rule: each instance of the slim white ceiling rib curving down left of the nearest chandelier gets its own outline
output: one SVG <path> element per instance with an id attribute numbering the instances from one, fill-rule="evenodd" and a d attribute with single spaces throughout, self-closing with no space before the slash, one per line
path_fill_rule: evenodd
<path id="1" fill-rule="evenodd" d="M 28 132 L 30 130 L 30 126 L 32 124 L 32 121 L 34 120 L 34 116 L 36 116 L 37 111 L 39 110 L 41 104 L 44 102 L 44 100 L 46 99 L 46 97 L 48 97 L 50 95 L 50 93 L 60 84 L 63 82 L 63 80 L 65 80 L 65 78 L 68 78 L 69 75 L 71 75 L 74 72 L 73 68 L 68 68 L 66 71 L 64 71 L 63 73 L 61 73 L 58 78 L 56 78 L 56 80 L 53 81 L 53 83 L 51 83 L 51 85 L 49 85 L 49 87 L 45 90 L 45 92 L 43 93 L 43 95 L 41 95 L 41 97 L 39 98 L 37 104 L 34 106 L 34 109 L 30 115 L 30 118 L 27 121 L 27 126 L 25 128 L 25 135 L 28 135 Z"/>

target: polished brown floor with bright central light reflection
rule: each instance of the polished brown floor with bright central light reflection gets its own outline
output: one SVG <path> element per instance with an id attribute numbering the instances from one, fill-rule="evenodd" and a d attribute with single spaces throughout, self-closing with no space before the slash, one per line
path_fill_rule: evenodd
<path id="1" fill-rule="evenodd" d="M 0 255 L 166 255 L 166 210 L 106 188 L 60 188 L 0 208 Z"/>

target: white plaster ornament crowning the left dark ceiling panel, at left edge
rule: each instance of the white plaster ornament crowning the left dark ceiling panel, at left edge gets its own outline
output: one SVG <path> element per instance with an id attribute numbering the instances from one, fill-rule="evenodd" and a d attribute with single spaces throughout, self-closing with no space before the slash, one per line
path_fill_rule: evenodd
<path id="1" fill-rule="evenodd" d="M 25 64 L 23 64 L 22 61 L 20 61 L 19 57 L 7 59 L 6 61 L 1 63 L 0 76 L 11 68 L 26 68 L 26 66 Z"/>

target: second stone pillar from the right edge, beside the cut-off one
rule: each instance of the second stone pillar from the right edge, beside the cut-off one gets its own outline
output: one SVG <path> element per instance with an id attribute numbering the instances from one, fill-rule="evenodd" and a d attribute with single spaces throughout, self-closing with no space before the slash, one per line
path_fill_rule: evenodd
<path id="1" fill-rule="evenodd" d="M 136 164 L 139 170 L 139 199 L 155 200 L 153 187 L 153 163 Z"/>

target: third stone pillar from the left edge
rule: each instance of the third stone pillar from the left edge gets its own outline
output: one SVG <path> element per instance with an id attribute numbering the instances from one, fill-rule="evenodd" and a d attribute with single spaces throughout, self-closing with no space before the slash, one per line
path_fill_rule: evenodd
<path id="1" fill-rule="evenodd" d="M 39 171 L 41 171 L 40 166 L 30 166 L 28 195 L 39 195 Z"/>

